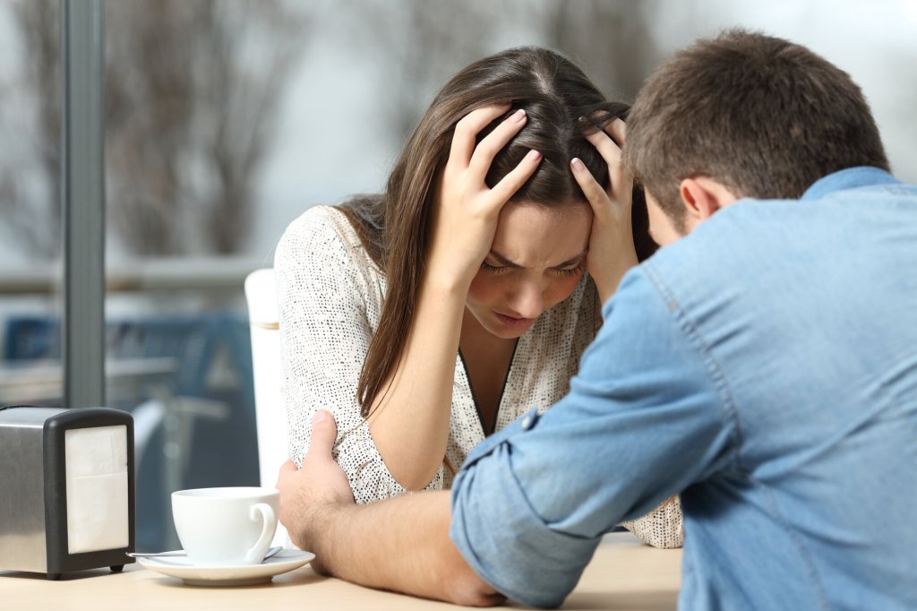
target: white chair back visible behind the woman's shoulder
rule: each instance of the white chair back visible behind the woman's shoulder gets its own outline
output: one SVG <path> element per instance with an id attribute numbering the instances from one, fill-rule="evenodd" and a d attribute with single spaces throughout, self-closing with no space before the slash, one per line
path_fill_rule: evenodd
<path id="1" fill-rule="evenodd" d="M 274 271 L 255 270 L 245 279 L 251 328 L 252 375 L 255 382 L 255 421 L 262 486 L 272 488 L 287 460 L 287 422 L 281 392 L 280 317 L 274 290 Z M 287 531 L 277 525 L 272 545 L 291 546 Z"/>

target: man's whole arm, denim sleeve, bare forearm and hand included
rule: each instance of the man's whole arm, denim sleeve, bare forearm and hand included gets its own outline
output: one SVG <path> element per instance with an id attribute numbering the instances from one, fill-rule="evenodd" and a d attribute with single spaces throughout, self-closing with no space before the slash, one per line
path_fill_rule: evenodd
<path id="1" fill-rule="evenodd" d="M 604 533 L 735 464 L 729 385 L 673 308 L 640 268 L 625 276 L 570 394 L 479 444 L 451 507 L 446 493 L 354 506 L 320 412 L 303 469 L 281 472 L 282 523 L 352 582 L 465 605 L 496 592 L 560 605 Z"/>

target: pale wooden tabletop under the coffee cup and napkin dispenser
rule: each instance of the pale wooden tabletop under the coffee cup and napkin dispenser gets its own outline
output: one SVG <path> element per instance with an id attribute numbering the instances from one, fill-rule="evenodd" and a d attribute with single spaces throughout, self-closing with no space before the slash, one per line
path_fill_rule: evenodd
<path id="1" fill-rule="evenodd" d="M 561 607 L 639 610 L 675 609 L 681 550 L 657 550 L 630 533 L 602 541 L 580 583 Z M 510 606 L 518 606 L 510 604 Z M 43 575 L 0 571 L 0 608 L 9 611 L 290 611 L 291 609 L 455 609 L 453 605 L 371 590 L 323 577 L 304 567 L 249 587 L 192 587 L 180 580 L 128 564 L 122 573 L 107 569 L 65 575 L 49 582 Z"/>

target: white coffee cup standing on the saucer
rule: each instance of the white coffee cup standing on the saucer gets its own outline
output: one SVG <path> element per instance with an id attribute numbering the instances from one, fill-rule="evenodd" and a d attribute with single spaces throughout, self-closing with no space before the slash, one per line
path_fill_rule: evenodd
<path id="1" fill-rule="evenodd" d="M 277 528 L 277 490 L 198 488 L 171 497 L 175 530 L 195 564 L 238 566 L 264 560 Z"/>

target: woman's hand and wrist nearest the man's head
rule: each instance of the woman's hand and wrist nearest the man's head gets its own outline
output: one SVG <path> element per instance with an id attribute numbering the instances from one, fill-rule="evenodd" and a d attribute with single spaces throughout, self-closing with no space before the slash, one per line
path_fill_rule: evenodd
<path id="1" fill-rule="evenodd" d="M 624 121 L 614 119 L 604 131 L 586 137 L 608 163 L 608 190 L 595 182 L 582 161 L 570 162 L 573 176 L 592 206 L 592 232 L 586 269 L 605 303 L 618 288 L 624 273 L 636 265 L 634 234 L 631 228 L 631 204 L 634 179 L 624 170 L 621 147 L 624 146 Z"/>

